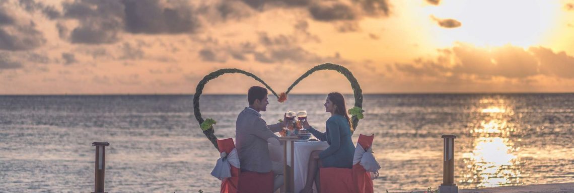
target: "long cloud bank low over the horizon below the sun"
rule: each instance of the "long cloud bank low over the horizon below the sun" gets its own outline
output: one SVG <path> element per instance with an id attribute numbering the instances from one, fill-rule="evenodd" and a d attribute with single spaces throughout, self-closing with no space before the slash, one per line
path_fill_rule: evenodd
<path id="1" fill-rule="evenodd" d="M 543 47 L 528 50 L 506 45 L 494 49 L 459 44 L 439 50 L 436 60 L 418 58 L 411 64 L 395 64 L 395 69 L 413 76 L 492 77 L 527 80 L 536 76 L 574 78 L 574 57 Z"/>

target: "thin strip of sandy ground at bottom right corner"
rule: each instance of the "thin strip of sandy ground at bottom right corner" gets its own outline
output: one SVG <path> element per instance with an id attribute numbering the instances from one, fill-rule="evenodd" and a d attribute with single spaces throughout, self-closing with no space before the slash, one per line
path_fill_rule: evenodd
<path id="1" fill-rule="evenodd" d="M 413 191 L 413 193 L 422 193 L 425 191 Z M 505 186 L 495 188 L 464 189 L 460 193 L 572 193 L 574 192 L 574 183 L 561 184 L 536 184 L 528 186 Z"/>

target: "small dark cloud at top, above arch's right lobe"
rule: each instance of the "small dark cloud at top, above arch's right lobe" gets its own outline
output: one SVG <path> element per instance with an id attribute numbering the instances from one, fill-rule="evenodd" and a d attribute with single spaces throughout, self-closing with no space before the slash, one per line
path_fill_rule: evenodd
<path id="1" fill-rule="evenodd" d="M 353 20 L 356 13 L 351 6 L 339 2 L 314 3 L 309 13 L 319 21 Z"/>

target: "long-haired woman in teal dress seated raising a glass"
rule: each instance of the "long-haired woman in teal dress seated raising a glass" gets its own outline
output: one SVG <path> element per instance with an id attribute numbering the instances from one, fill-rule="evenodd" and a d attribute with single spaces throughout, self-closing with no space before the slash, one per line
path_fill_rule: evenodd
<path id="1" fill-rule="evenodd" d="M 309 171 L 307 182 L 301 193 L 313 192 L 313 180 L 320 191 L 319 168 L 352 168 L 355 147 L 351 141 L 352 123 L 347 115 L 343 94 L 332 92 L 327 95 L 325 112 L 331 113 L 327 120 L 327 131 L 322 133 L 309 125 L 309 121 L 303 123 L 303 127 L 321 141 L 327 141 L 329 147 L 323 151 L 313 151 L 309 156 Z M 317 167 L 318 166 L 318 167 Z"/>

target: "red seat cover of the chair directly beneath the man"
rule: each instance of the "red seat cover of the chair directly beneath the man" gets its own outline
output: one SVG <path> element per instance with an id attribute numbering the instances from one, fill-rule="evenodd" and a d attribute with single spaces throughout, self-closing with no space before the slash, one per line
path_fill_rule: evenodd
<path id="1" fill-rule="evenodd" d="M 242 171 L 239 174 L 239 192 L 241 193 L 272 193 L 273 172 L 259 173 Z"/>

